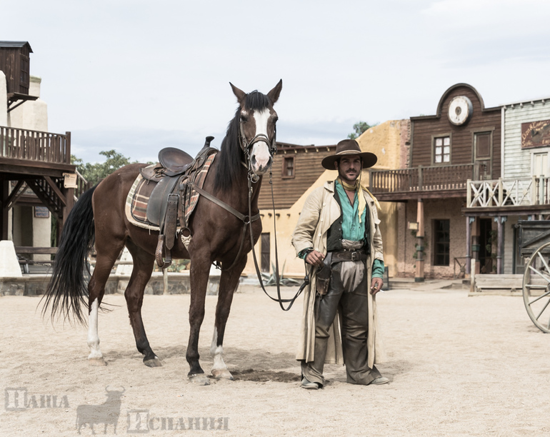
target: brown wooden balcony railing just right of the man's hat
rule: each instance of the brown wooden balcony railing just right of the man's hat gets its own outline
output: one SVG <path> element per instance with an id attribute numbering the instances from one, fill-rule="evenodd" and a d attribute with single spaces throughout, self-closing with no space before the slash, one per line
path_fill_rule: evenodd
<path id="1" fill-rule="evenodd" d="M 369 189 L 372 194 L 460 190 L 466 189 L 467 181 L 472 179 L 474 174 L 479 174 L 478 164 L 371 170 Z"/>

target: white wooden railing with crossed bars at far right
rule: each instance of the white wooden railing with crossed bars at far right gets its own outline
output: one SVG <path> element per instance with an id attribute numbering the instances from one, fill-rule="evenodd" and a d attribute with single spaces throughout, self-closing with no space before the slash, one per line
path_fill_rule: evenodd
<path id="1" fill-rule="evenodd" d="M 466 208 L 550 204 L 550 178 L 545 176 L 468 181 L 467 188 Z"/>

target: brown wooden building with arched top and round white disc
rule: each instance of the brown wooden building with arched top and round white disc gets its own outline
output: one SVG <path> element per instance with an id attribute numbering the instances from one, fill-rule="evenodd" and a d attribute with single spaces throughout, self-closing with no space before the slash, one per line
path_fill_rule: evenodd
<path id="1" fill-rule="evenodd" d="M 471 251 L 484 266 L 491 262 L 491 218 L 476 218 L 471 227 L 461 209 L 469 180 L 501 172 L 500 107 L 486 108 L 473 86 L 451 86 L 434 115 L 411 117 L 406 153 L 406 168 L 373 169 L 370 175 L 371 192 L 379 201 L 404 204 L 399 210 L 399 276 L 417 281 L 452 277 L 464 269 Z M 470 235 L 468 242 L 464 238 L 471 228 L 474 245 Z"/>

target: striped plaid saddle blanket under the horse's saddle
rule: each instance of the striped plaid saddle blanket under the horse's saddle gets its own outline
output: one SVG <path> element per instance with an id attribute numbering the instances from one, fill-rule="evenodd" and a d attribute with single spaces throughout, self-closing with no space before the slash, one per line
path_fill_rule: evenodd
<path id="1" fill-rule="evenodd" d="M 208 173 L 212 162 L 214 162 L 216 154 L 211 154 L 208 159 L 206 159 L 204 166 L 194 175 L 189 175 L 188 179 L 193 181 L 193 184 L 202 188 L 204 184 L 204 179 L 206 179 L 206 174 Z M 159 164 L 152 164 L 152 166 L 158 166 Z M 166 177 L 166 176 L 165 176 Z M 151 197 L 151 192 L 153 191 L 156 184 L 154 182 L 144 179 L 141 174 L 136 177 L 134 184 L 132 184 L 131 189 L 126 196 L 126 218 L 134 226 L 139 228 L 149 229 L 150 231 L 159 231 L 159 226 L 154 223 L 151 223 L 147 220 L 147 203 Z M 192 191 L 191 193 L 189 191 Z M 182 211 L 185 211 L 185 221 L 184 223 L 189 223 L 189 218 L 195 210 L 196 204 L 199 201 L 199 193 L 195 190 L 187 190 L 185 199 L 180 199 L 180 209 L 178 213 L 178 230 L 181 228 L 183 215 Z"/>

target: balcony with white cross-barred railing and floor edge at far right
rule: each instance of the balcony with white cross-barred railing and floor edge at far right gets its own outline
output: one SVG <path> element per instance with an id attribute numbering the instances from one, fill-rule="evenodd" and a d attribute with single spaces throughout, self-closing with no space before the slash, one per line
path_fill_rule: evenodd
<path id="1" fill-rule="evenodd" d="M 465 214 L 509 211 L 514 214 L 548 214 L 550 177 L 468 181 Z"/>

